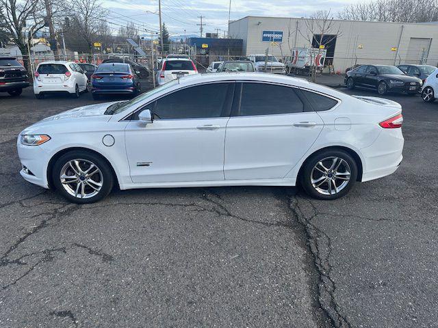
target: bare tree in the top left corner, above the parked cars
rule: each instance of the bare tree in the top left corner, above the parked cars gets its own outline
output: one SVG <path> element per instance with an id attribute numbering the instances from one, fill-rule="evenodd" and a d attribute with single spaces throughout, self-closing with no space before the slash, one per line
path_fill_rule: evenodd
<path id="1" fill-rule="evenodd" d="M 32 34 L 44 27 L 44 5 L 40 0 L 0 0 L 0 22 L 1 28 L 27 57 Z M 25 66 L 30 69 L 28 61 Z"/>

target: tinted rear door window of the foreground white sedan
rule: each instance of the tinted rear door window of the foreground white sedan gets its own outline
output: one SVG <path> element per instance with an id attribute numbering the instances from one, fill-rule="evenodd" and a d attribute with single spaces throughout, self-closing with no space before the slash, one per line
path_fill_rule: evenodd
<path id="1" fill-rule="evenodd" d="M 244 83 L 240 116 L 300 113 L 304 106 L 292 87 Z"/>

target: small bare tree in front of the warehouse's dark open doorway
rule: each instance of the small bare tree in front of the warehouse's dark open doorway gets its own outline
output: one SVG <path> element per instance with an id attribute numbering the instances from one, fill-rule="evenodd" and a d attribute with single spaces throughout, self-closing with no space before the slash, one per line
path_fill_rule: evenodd
<path id="1" fill-rule="evenodd" d="M 333 21 L 333 17 L 331 16 L 331 10 L 320 10 L 315 12 L 309 18 L 304 20 L 305 22 L 305 33 L 298 29 L 301 36 L 305 38 L 307 42 L 309 42 L 309 46 L 312 48 L 317 48 L 318 53 L 315 58 L 322 54 L 322 49 L 325 48 L 327 44 L 330 44 L 333 40 L 342 36 L 341 27 L 337 25 L 335 21 Z M 311 66 L 310 66 L 310 74 L 312 82 L 316 81 L 316 71 L 317 66 L 314 63 L 313 55 L 315 54 L 313 51 L 311 53 Z"/>

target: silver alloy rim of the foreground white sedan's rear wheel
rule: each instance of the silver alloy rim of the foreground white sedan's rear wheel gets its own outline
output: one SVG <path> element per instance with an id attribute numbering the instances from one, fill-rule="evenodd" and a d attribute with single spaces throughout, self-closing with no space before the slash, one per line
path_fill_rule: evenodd
<path id="1" fill-rule="evenodd" d="M 335 195 L 347 187 L 351 169 L 347 161 L 330 156 L 318 161 L 311 170 L 311 185 L 322 195 Z"/>

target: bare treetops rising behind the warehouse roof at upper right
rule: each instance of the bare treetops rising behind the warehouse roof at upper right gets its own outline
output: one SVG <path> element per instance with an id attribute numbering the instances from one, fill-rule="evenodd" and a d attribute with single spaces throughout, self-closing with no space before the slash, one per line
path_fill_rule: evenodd
<path id="1" fill-rule="evenodd" d="M 438 0 L 376 0 L 348 5 L 340 19 L 420 23 L 438 20 Z"/>

